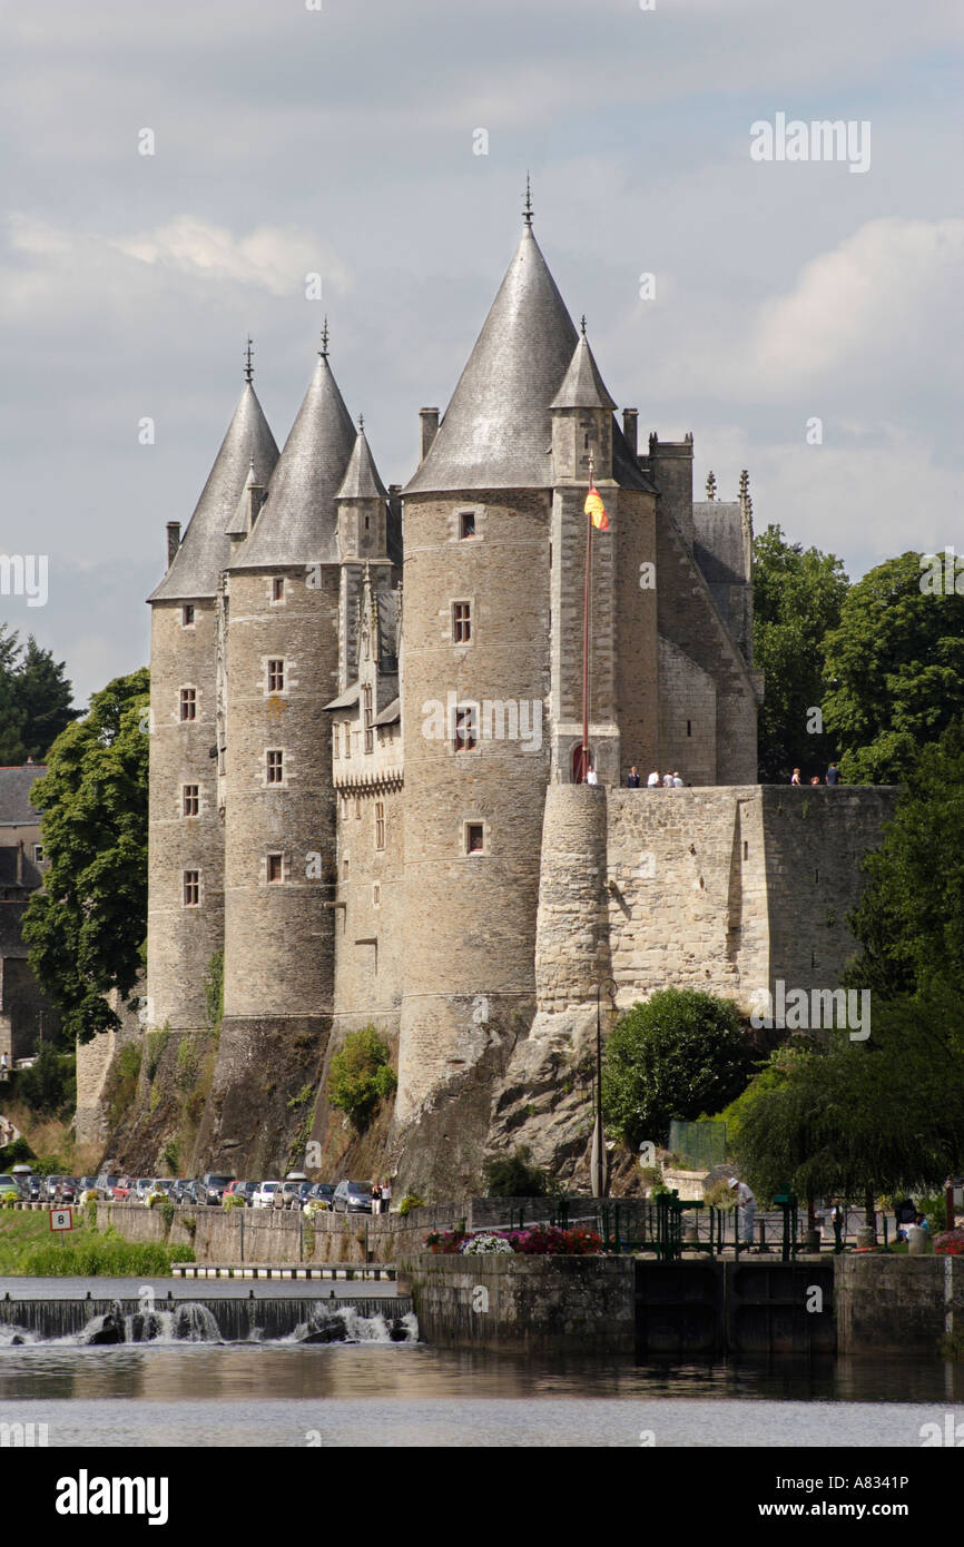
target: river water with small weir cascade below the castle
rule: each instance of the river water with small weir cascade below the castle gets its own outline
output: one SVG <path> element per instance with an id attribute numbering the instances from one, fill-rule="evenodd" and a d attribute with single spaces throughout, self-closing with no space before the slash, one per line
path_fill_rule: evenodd
<path id="1" fill-rule="evenodd" d="M 0 1281 L 0 1299 L 136 1299 L 136 1281 Z M 187 1304 L 198 1284 L 153 1281 Z M 90 1346 L 77 1335 L 0 1338 L 0 1423 L 46 1425 L 53 1446 L 921 1446 L 927 1423 L 964 1423 L 964 1366 L 938 1360 L 636 1363 L 450 1352 L 390 1341 L 393 1286 L 339 1284 L 317 1299 L 385 1301 L 354 1341 Z M 257 1298 L 279 1298 L 283 1286 Z M 381 1293 L 379 1293 L 381 1290 Z M 251 1295 L 248 1284 L 218 1293 Z M 198 1321 L 198 1326 L 201 1323 Z M 197 1334 L 203 1337 L 203 1332 Z M 413 1329 L 415 1335 L 415 1329 Z M 37 1431 L 40 1433 L 40 1431 Z M 964 1431 L 962 1431 L 964 1433 Z"/>

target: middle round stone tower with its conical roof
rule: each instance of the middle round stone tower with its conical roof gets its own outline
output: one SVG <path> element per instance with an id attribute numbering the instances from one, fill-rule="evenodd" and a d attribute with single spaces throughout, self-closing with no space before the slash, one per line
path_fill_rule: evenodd
<path id="1" fill-rule="evenodd" d="M 224 1030 L 235 1061 L 326 1033 L 333 998 L 337 690 L 334 495 L 354 432 L 319 362 L 251 535 L 227 572 Z"/>

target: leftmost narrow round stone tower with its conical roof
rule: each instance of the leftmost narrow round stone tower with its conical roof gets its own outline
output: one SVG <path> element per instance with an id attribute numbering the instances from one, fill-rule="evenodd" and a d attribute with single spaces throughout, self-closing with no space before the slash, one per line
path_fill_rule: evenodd
<path id="1" fill-rule="evenodd" d="M 150 1024 L 175 1030 L 206 1024 L 204 975 L 224 937 L 224 834 L 210 755 L 218 586 L 246 480 L 266 484 L 279 456 L 251 374 L 249 362 L 181 543 L 176 523 L 167 523 L 169 568 L 150 597 L 147 993 Z"/>

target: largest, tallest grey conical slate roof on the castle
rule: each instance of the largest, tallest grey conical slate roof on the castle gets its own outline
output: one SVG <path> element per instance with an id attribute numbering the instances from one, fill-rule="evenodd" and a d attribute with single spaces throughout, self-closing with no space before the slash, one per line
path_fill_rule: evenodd
<path id="1" fill-rule="evenodd" d="M 549 404 L 577 333 L 526 226 L 429 455 L 405 493 L 552 481 Z"/>

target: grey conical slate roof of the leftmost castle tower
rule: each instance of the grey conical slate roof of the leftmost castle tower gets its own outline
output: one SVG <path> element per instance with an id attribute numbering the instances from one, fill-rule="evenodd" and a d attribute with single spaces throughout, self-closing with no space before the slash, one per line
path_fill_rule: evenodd
<path id="1" fill-rule="evenodd" d="M 184 532 L 184 541 L 149 602 L 217 596 L 218 580 L 231 551 L 226 528 L 237 511 L 252 459 L 257 481 L 266 484 L 279 459 L 279 449 L 254 387 L 244 382 L 221 450 Z"/>

